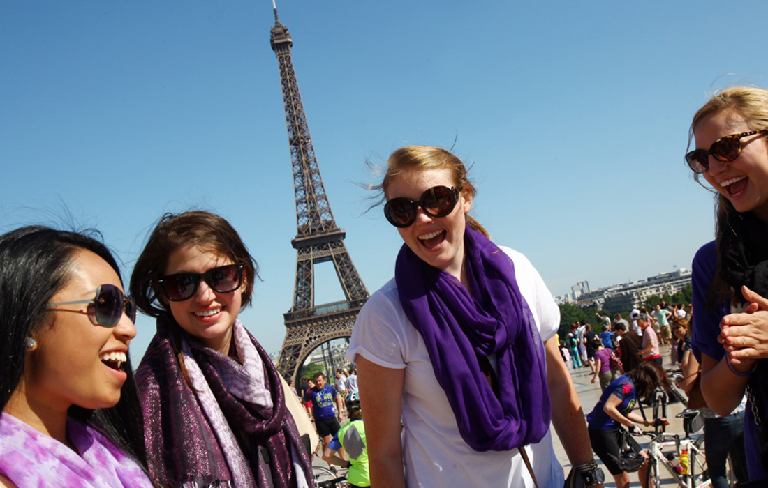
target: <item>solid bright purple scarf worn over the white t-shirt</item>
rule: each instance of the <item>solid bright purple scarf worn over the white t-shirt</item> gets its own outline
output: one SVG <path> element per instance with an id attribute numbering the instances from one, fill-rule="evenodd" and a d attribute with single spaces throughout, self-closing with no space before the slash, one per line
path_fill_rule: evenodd
<path id="1" fill-rule="evenodd" d="M 545 350 L 515 265 L 468 226 L 464 242 L 469 289 L 402 246 L 395 269 L 402 308 L 424 339 L 458 431 L 472 449 L 538 443 L 551 417 Z M 492 354 L 495 391 L 481 368 Z"/>

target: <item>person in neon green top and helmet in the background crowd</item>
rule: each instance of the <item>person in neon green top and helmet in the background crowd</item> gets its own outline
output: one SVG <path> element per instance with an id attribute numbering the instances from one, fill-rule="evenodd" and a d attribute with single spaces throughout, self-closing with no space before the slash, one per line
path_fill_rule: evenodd
<path id="1" fill-rule="evenodd" d="M 323 460 L 329 464 L 349 468 L 346 480 L 353 488 L 371 486 L 368 472 L 368 447 L 366 445 L 366 427 L 362 423 L 362 410 L 359 402 L 349 407 L 349 423 L 344 424 L 323 450 Z M 339 449 L 346 450 L 349 460 L 336 454 Z"/>

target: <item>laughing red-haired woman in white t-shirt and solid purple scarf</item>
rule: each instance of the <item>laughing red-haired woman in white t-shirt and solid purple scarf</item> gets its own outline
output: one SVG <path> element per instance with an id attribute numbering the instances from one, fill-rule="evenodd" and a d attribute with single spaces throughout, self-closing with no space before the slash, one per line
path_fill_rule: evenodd
<path id="1" fill-rule="evenodd" d="M 348 352 L 371 486 L 535 486 L 532 470 L 540 488 L 559 488 L 550 420 L 587 484 L 601 486 L 554 338 L 558 307 L 528 259 L 467 215 L 475 189 L 462 161 L 403 147 L 379 188 L 405 245 Z"/>

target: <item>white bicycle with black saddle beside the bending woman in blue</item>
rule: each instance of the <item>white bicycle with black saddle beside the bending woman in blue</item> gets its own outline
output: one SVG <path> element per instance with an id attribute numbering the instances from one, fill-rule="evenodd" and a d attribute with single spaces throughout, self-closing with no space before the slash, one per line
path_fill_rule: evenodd
<path id="1" fill-rule="evenodd" d="M 684 425 L 694 424 L 694 419 L 699 415 L 698 411 L 685 410 L 677 414 L 676 417 L 684 419 Z M 682 488 L 706 488 L 712 486 L 709 473 L 707 471 L 707 458 L 705 456 L 704 436 L 701 434 L 695 440 L 690 437 L 695 430 L 686 428 L 684 437 L 680 434 L 666 434 L 664 432 L 647 431 L 643 434 L 650 437 L 650 443 L 646 449 L 648 453 L 648 473 L 647 486 L 660 486 L 660 467 L 663 466 L 669 471 L 673 480 Z M 687 470 L 679 471 L 680 454 L 686 450 L 688 453 Z M 733 471 L 730 462 L 727 463 L 727 478 L 733 480 Z M 654 484 L 650 484 L 650 480 Z"/>

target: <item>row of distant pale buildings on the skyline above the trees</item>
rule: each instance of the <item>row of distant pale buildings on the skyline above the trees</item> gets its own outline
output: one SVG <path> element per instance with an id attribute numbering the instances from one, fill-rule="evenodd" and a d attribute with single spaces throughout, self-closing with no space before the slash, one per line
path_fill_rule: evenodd
<path id="1" fill-rule="evenodd" d="M 571 287 L 571 293 L 564 296 L 571 298 L 570 295 L 574 294 L 574 289 L 586 283 L 577 283 Z M 587 292 L 576 298 L 563 299 L 564 297 L 558 297 L 556 301 L 558 303 L 573 303 L 578 307 L 596 306 L 604 308 L 607 312 L 617 313 L 642 305 L 651 295 L 674 295 L 686 285 L 690 285 L 690 270 L 680 268 L 673 272 L 660 273 L 636 282 L 604 286 L 591 292 L 587 286 Z"/>

